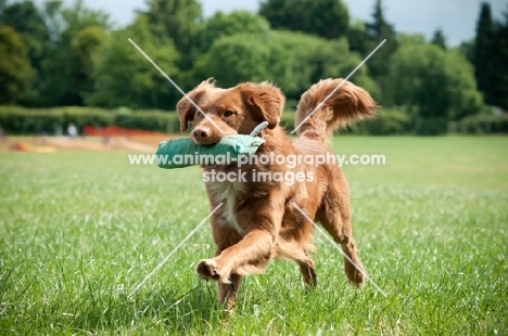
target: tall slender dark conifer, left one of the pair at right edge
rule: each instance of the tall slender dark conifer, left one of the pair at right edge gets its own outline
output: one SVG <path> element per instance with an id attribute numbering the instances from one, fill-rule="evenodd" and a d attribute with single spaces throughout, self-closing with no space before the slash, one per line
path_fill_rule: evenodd
<path id="1" fill-rule="evenodd" d="M 483 2 L 477 24 L 477 41 L 474 46 L 474 76 L 478 88 L 483 92 L 487 104 L 493 104 L 494 90 L 494 39 L 491 5 Z M 497 42 L 496 42 L 497 43 Z"/>

